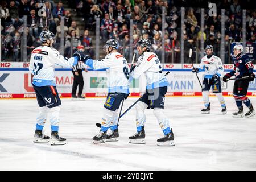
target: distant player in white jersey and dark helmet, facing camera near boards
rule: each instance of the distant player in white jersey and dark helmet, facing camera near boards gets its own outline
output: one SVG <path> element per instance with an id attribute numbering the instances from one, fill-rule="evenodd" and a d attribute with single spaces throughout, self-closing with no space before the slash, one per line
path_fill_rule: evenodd
<path id="1" fill-rule="evenodd" d="M 207 55 L 205 55 L 201 59 L 200 67 L 192 69 L 193 73 L 205 72 L 202 85 L 202 96 L 205 107 L 201 110 L 201 113 L 210 113 L 209 90 L 210 87 L 212 87 L 212 92 L 216 94 L 218 101 L 220 101 L 222 114 L 226 114 L 226 104 L 221 92 L 220 77 L 223 75 L 224 72 L 221 59 L 220 57 L 213 55 L 212 45 L 208 45 L 205 48 L 205 52 L 207 53 Z"/>

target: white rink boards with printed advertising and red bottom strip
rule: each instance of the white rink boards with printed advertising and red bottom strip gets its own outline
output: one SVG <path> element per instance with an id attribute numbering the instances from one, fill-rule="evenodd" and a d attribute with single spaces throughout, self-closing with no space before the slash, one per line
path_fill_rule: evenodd
<path id="1" fill-rule="evenodd" d="M 199 64 L 195 64 L 198 67 Z M 0 98 L 35 98 L 32 87 L 32 76 L 28 71 L 29 63 L 0 63 Z M 255 65 L 254 65 L 255 67 Z M 200 96 L 201 87 L 195 73 L 192 73 L 191 64 L 164 64 L 163 71 L 167 75 L 168 91 L 166 96 Z M 232 64 L 224 65 L 224 72 L 233 69 Z M 255 71 L 254 71 L 255 72 Z M 104 70 L 82 73 L 84 76 L 84 95 L 86 97 L 105 97 L 107 95 L 106 72 Z M 203 80 L 203 73 L 197 73 L 200 81 Z M 55 68 L 57 90 L 60 97 L 71 97 L 73 74 L 69 68 Z M 224 95 L 232 96 L 234 80 L 221 82 Z M 146 78 L 141 76 L 130 82 L 131 96 L 140 96 L 146 89 Z M 211 93 L 212 94 L 212 93 Z M 250 82 L 248 89 L 249 96 L 256 96 L 256 81 Z"/>

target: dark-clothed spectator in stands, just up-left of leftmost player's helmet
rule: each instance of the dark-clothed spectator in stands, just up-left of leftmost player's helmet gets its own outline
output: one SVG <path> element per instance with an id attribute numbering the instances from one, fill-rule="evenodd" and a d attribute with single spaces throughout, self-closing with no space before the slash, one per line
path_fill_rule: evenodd
<path id="1" fill-rule="evenodd" d="M 39 18 L 36 16 L 35 9 L 31 9 L 30 15 L 27 18 L 27 27 L 30 29 L 30 35 L 34 35 L 35 38 L 38 38 L 39 36 L 39 30 L 38 30 L 38 23 Z"/>

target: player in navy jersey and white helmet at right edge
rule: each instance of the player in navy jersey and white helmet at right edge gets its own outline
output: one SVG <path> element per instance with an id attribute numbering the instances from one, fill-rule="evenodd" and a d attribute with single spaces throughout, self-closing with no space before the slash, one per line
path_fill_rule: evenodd
<path id="1" fill-rule="evenodd" d="M 243 54 L 243 46 L 236 45 L 234 46 L 234 69 L 226 73 L 223 77 L 223 81 L 226 82 L 230 77 L 236 76 L 236 81 L 234 82 L 233 97 L 236 101 L 238 111 L 233 113 L 233 117 L 243 117 L 249 118 L 255 115 L 253 105 L 251 104 L 248 97 L 246 97 L 247 89 L 249 82 L 253 81 L 255 75 L 253 73 L 253 63 L 250 61 L 249 57 L 246 54 Z M 243 115 L 243 106 L 246 105 L 249 108 L 249 111 Z"/>

